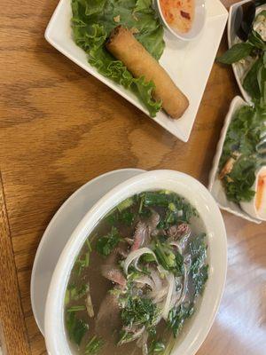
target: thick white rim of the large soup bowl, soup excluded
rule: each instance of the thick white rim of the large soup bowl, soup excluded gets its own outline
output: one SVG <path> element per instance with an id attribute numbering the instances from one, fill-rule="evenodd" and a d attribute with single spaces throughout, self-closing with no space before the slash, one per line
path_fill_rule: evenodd
<path id="1" fill-rule="evenodd" d="M 45 341 L 49 354 L 71 355 L 64 325 L 64 298 L 74 259 L 98 221 L 127 197 L 147 190 L 167 189 L 183 195 L 198 209 L 207 231 L 209 278 L 197 312 L 186 332 L 176 341 L 173 354 L 193 355 L 200 348 L 215 319 L 227 267 L 227 245 L 223 218 L 207 189 L 193 177 L 172 170 L 154 170 L 132 177 L 102 197 L 75 229 L 55 272 L 45 307 Z"/>

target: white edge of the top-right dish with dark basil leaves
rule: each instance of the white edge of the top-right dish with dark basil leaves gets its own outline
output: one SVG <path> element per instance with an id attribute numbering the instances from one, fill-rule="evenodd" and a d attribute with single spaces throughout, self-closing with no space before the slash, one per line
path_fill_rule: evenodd
<path id="1" fill-rule="evenodd" d="M 234 22 L 236 19 L 237 10 L 238 10 L 239 6 L 242 6 L 243 4 L 246 4 L 246 3 L 250 3 L 250 1 L 251 0 L 244 0 L 244 1 L 240 1 L 239 3 L 231 5 L 231 8 L 229 10 L 228 27 L 227 27 L 227 37 L 228 37 L 229 48 L 231 48 L 231 46 L 234 43 L 236 43 L 236 39 L 238 38 L 238 36 L 236 35 L 236 32 L 235 32 L 235 28 L 234 28 Z M 261 7 L 259 7 L 258 9 L 260 9 L 260 8 Z M 260 11 L 260 10 L 257 10 L 257 12 L 258 11 Z M 252 100 L 242 85 L 242 81 L 245 76 L 245 71 L 244 71 L 243 67 L 241 65 L 239 65 L 238 63 L 234 63 L 234 64 L 232 64 L 232 69 L 233 69 L 234 75 L 236 77 L 236 81 L 239 85 L 239 90 L 241 91 L 241 94 L 243 95 L 243 98 L 246 100 L 246 102 L 251 103 Z"/>

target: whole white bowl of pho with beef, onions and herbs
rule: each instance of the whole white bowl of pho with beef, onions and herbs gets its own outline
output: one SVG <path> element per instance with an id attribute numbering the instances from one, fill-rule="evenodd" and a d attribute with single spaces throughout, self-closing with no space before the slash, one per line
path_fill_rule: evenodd
<path id="1" fill-rule="evenodd" d="M 59 257 L 49 354 L 195 354 L 223 294 L 226 250 L 220 210 L 193 177 L 154 170 L 116 186 Z"/>

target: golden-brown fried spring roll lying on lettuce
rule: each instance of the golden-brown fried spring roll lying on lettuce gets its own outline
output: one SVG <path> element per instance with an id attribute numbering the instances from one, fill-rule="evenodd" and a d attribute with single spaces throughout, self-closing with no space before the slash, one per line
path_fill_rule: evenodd
<path id="1" fill-rule="evenodd" d="M 134 77 L 145 76 L 153 81 L 153 98 L 162 101 L 162 107 L 172 117 L 179 118 L 189 106 L 188 99 L 169 77 L 168 73 L 127 28 L 114 28 L 106 42 L 106 49 L 120 59 Z"/>

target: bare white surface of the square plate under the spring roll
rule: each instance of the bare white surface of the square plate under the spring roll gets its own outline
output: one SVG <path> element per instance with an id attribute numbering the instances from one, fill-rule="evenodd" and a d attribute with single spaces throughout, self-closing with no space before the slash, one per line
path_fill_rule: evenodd
<path id="1" fill-rule="evenodd" d="M 179 120 L 169 118 L 168 114 L 163 111 L 160 111 L 153 120 L 184 142 L 187 142 L 190 137 L 207 78 L 228 18 L 228 12 L 219 0 L 206 0 L 206 7 L 206 26 L 195 41 L 178 42 L 165 30 L 166 48 L 160 59 L 161 66 L 168 71 L 176 85 L 184 91 L 190 100 L 190 106 Z M 72 38 L 71 18 L 70 0 L 60 0 L 46 28 L 46 40 L 67 58 L 73 60 L 78 66 L 97 77 L 101 82 L 106 83 L 123 98 L 128 99 L 131 104 L 149 115 L 145 106 L 133 93 L 113 83 L 110 79 L 99 74 L 95 67 L 90 66 L 87 54 L 74 43 Z"/>

